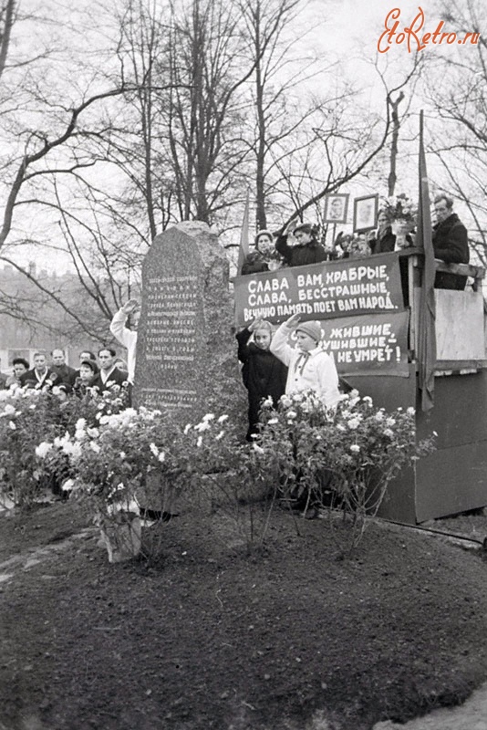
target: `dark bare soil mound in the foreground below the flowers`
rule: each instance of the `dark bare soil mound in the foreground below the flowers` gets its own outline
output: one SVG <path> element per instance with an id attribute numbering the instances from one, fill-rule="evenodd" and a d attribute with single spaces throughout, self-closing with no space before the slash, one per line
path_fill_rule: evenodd
<path id="1" fill-rule="evenodd" d="M 337 559 L 326 521 L 276 512 L 249 557 L 230 527 L 189 511 L 157 564 L 109 565 L 76 505 L 0 515 L 0 728 L 366 730 L 487 676 L 480 551 L 374 523 Z"/>

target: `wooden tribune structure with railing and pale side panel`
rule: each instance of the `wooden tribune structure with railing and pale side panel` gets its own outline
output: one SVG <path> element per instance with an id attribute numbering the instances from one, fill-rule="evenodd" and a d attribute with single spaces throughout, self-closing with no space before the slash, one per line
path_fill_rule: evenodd
<path id="1" fill-rule="evenodd" d="M 380 515 L 416 524 L 487 506 L 487 358 L 480 266 L 447 265 L 439 271 L 470 276 L 466 291 L 435 290 L 436 342 L 434 407 L 420 410 L 418 324 L 422 256 L 415 249 L 399 254 L 409 302 L 409 378 L 349 377 L 362 395 L 387 410 L 416 409 L 418 440 L 438 433 L 437 450 L 403 470 L 390 486 Z"/>

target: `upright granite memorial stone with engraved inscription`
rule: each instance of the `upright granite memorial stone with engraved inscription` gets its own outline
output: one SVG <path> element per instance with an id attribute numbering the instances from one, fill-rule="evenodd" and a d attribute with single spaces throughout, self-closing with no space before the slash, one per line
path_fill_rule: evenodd
<path id="1" fill-rule="evenodd" d="M 218 236 L 197 221 L 157 235 L 142 265 L 134 405 L 195 422 L 206 412 L 233 410 L 236 393 L 236 410 L 244 412 L 232 326 L 229 267 Z"/>

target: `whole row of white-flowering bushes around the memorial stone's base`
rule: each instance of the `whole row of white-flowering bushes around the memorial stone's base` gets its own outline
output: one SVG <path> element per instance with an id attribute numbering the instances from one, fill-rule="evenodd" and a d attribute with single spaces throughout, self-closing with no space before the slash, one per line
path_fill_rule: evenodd
<path id="1" fill-rule="evenodd" d="M 18 391 L 4 399 L 4 494 L 25 507 L 50 485 L 83 501 L 105 536 L 115 526 L 127 532 L 140 516 L 169 521 L 204 498 L 232 517 L 249 549 L 264 543 L 276 503 L 294 501 L 305 514 L 325 510 L 332 529 L 339 509 L 352 549 L 390 480 L 434 441 L 416 443 L 413 409 L 387 413 L 357 391 L 336 411 L 311 391 L 283 396 L 277 409 L 264 401 L 251 445 L 225 413 L 183 425 L 169 412 L 123 406 L 117 394 L 60 403 L 51 393 Z M 157 551 L 154 544 L 146 555 Z"/>

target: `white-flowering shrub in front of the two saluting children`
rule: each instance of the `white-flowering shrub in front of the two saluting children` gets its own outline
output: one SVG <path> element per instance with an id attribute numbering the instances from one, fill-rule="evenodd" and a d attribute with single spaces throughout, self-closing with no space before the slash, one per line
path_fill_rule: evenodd
<path id="1" fill-rule="evenodd" d="M 416 443 L 415 412 L 376 409 L 357 391 L 327 411 L 312 391 L 283 396 L 277 409 L 264 401 L 254 443 L 262 469 L 269 464 L 285 498 L 307 505 L 339 506 L 352 517 L 351 547 L 375 516 L 391 479 L 433 449 L 435 433 Z M 333 522 L 330 520 L 330 524 Z"/>

